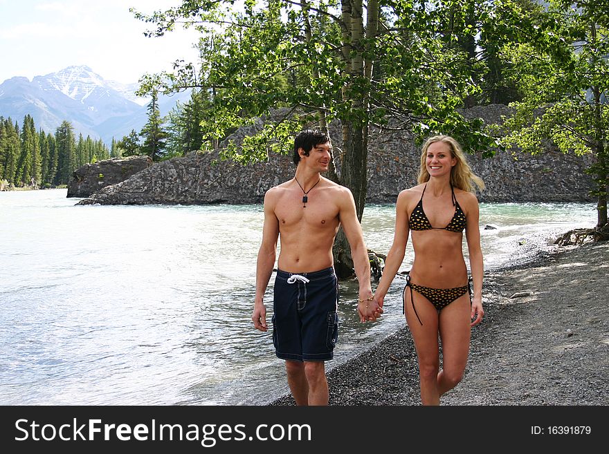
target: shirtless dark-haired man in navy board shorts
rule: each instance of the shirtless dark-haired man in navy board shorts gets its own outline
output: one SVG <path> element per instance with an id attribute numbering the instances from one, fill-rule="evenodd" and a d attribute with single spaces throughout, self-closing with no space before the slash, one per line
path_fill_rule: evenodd
<path id="1" fill-rule="evenodd" d="M 330 149 L 323 133 L 307 130 L 298 134 L 294 140 L 294 178 L 272 187 L 264 196 L 252 321 L 257 330 L 268 329 L 262 299 L 280 237 L 273 345 L 277 357 L 286 361 L 296 405 L 328 404 L 324 361 L 334 357 L 338 338 L 338 283 L 332 245 L 339 225 L 349 240 L 359 281 L 360 321 L 374 321 L 383 312 L 370 289 L 370 261 L 352 193 L 320 175 L 328 169 Z"/>

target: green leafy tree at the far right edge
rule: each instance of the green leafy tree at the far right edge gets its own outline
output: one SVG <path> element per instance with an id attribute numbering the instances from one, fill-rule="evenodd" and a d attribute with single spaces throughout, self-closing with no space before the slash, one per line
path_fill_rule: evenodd
<path id="1" fill-rule="evenodd" d="M 609 3 L 551 0 L 531 17 L 514 3 L 522 30 L 505 46 L 523 98 L 511 104 L 503 142 L 531 153 L 548 144 L 564 153 L 592 153 L 597 227 L 607 225 L 609 138 Z"/>

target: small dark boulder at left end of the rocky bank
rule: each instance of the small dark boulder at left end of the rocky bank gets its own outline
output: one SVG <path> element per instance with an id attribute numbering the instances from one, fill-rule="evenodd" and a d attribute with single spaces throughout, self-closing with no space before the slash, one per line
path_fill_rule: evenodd
<path id="1" fill-rule="evenodd" d="M 131 178 L 151 165 L 152 160 L 148 156 L 112 158 L 94 164 L 85 164 L 72 173 L 72 180 L 68 185 L 68 197 L 89 197 L 104 187 Z"/>

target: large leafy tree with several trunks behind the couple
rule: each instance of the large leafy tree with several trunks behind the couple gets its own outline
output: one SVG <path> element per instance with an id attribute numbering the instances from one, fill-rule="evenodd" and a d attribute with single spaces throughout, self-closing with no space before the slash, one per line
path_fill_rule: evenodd
<path id="1" fill-rule="evenodd" d="M 212 93 L 209 115 L 201 120 L 210 141 L 265 117 L 256 135 L 220 150 L 222 158 L 243 163 L 289 151 L 293 133 L 303 126 L 327 131 L 340 120 L 343 148 L 334 157 L 340 173 L 335 165 L 329 177 L 352 191 L 361 219 L 370 126 L 412 131 L 417 138 L 450 133 L 470 151 L 492 153 L 494 142 L 480 131 L 482 122 L 458 111 L 480 92 L 471 55 L 447 43 L 439 13 L 460 3 L 369 0 L 364 14 L 361 0 L 247 0 L 242 10 L 229 0 L 184 0 L 153 15 L 136 12 L 154 24 L 151 36 L 184 23 L 197 27 L 206 44 L 199 47 L 200 70 L 176 62 L 173 73 L 144 77 L 142 91 L 196 87 Z M 453 32 L 465 36 L 457 27 L 468 25 L 455 22 Z M 279 107 L 284 111 L 271 115 Z M 349 255 L 339 232 L 335 256 L 350 268 Z"/>

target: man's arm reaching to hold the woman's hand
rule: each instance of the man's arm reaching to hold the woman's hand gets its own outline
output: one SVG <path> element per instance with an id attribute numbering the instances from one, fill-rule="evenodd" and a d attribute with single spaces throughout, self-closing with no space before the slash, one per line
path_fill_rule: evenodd
<path id="1" fill-rule="evenodd" d="M 340 216 L 340 225 L 342 225 L 345 236 L 349 240 L 353 267 L 359 282 L 357 312 L 361 322 L 375 321 L 377 317 L 381 316 L 383 309 L 372 299 L 370 258 L 368 258 L 361 225 L 357 219 L 355 200 L 349 189 L 341 190 L 338 207 L 340 210 L 338 215 Z"/>

